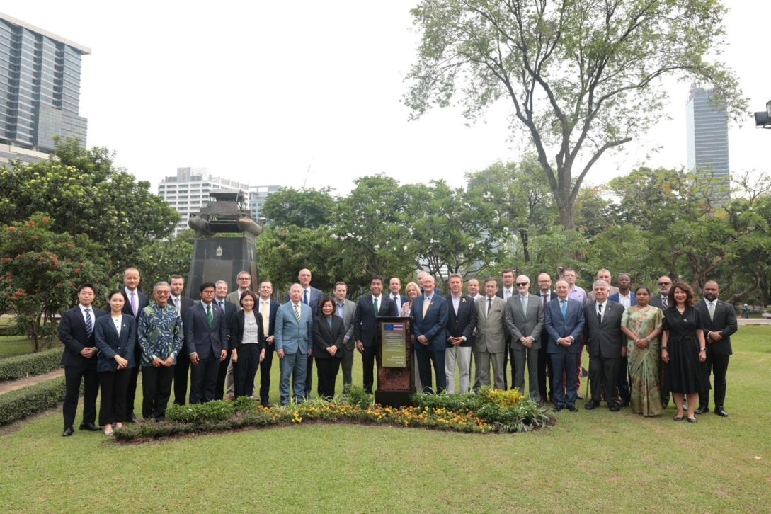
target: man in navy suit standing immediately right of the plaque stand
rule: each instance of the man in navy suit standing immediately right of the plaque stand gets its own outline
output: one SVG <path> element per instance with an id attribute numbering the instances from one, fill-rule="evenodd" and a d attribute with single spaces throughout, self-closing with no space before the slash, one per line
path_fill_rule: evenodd
<path id="1" fill-rule="evenodd" d="M 423 294 L 412 302 L 412 334 L 416 337 L 415 352 L 423 392 L 444 391 L 446 375 L 444 357 L 446 351 L 445 329 L 447 326 L 447 301 L 434 291 L 434 277 L 423 277 Z M 436 375 L 436 389 L 431 388 L 431 365 Z"/>

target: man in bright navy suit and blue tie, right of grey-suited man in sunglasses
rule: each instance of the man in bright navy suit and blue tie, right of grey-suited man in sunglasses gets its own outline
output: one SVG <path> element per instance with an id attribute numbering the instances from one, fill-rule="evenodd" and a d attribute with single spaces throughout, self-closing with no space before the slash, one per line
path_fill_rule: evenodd
<path id="1" fill-rule="evenodd" d="M 546 331 L 549 334 L 548 351 L 554 365 L 554 382 L 551 386 L 554 410 L 560 412 L 567 406 L 571 412 L 577 412 L 578 377 L 575 373 L 566 373 L 566 387 L 563 384 L 563 374 L 564 371 L 572 371 L 578 366 L 578 354 L 581 352 L 578 338 L 584 330 L 584 306 L 581 301 L 568 297 L 570 286 L 567 281 L 557 281 L 556 290 L 557 299 L 547 304 L 545 316 Z M 563 388 L 567 390 L 567 395 Z"/>

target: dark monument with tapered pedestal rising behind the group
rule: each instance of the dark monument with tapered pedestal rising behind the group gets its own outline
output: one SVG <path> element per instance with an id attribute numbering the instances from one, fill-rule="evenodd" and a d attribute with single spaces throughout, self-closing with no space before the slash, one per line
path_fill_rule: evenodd
<path id="1" fill-rule="evenodd" d="M 198 287 L 204 282 L 227 281 L 228 290 L 235 291 L 241 270 L 257 281 L 254 244 L 262 227 L 251 219 L 241 190 L 210 192 L 206 207 L 190 214 L 187 224 L 196 231 L 187 296 L 200 300 Z"/>

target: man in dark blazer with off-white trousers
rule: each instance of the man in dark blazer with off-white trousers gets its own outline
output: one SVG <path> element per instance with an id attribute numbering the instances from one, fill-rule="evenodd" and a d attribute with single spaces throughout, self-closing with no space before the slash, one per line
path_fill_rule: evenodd
<path id="1" fill-rule="evenodd" d="M 455 366 L 460 371 L 460 394 L 469 392 L 471 387 L 471 348 L 474 345 L 476 328 L 476 307 L 474 300 L 463 294 L 463 277 L 460 274 L 449 276 L 449 294 L 447 301 L 446 350 L 444 355 L 444 375 L 446 391 L 455 394 Z"/>

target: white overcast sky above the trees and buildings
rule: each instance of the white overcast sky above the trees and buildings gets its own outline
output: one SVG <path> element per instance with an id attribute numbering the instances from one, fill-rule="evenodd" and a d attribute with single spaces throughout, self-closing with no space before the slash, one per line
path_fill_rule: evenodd
<path id="1" fill-rule="evenodd" d="M 729 46 L 751 110 L 771 100 L 768 0 L 729 0 Z M 0 2 L 0 11 L 86 45 L 80 115 L 89 146 L 153 191 L 178 166 L 207 167 L 251 185 L 332 186 L 359 176 L 402 183 L 444 178 L 516 160 L 503 105 L 467 127 L 457 109 L 408 121 L 401 103 L 418 35 L 416 0 L 332 2 Z M 587 183 L 639 163 L 685 166 L 689 84 L 670 89 L 671 120 L 604 156 Z M 771 131 L 751 118 L 730 131 L 731 168 L 769 170 Z M 658 152 L 651 155 L 651 149 Z M 649 156 L 649 157 L 648 157 Z M 310 172 L 308 172 L 310 166 Z"/>

